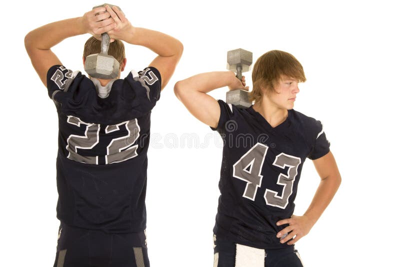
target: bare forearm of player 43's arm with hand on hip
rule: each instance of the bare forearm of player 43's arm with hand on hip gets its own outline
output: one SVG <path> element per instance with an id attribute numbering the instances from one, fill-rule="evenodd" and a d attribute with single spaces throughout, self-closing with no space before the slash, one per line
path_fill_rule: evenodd
<path id="1" fill-rule="evenodd" d="M 314 197 L 304 215 L 315 223 L 332 200 L 341 182 L 340 174 L 334 174 L 322 179 Z"/>

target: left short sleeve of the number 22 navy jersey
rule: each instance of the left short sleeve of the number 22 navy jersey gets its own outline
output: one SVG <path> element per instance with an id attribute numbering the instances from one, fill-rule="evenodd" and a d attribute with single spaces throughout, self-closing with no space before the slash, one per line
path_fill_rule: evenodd
<path id="1" fill-rule="evenodd" d="M 79 71 L 72 71 L 62 65 L 51 66 L 47 71 L 47 92 L 51 99 L 60 91 L 68 90 Z"/>

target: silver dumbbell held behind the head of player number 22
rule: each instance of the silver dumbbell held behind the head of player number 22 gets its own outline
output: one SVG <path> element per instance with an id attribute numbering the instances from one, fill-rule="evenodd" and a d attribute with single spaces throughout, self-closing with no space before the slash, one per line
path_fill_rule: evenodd
<path id="1" fill-rule="evenodd" d="M 102 5 L 94 6 L 106 6 L 109 5 L 112 8 L 112 4 L 104 3 Z M 118 6 L 116 6 L 118 7 Z M 121 10 L 118 7 L 119 10 Z M 119 62 L 112 56 L 108 55 L 109 48 L 109 35 L 107 32 L 101 33 L 101 51 L 97 54 L 89 54 L 86 56 L 84 62 L 84 70 L 93 78 L 99 79 L 113 79 L 118 76 L 119 73 Z"/>

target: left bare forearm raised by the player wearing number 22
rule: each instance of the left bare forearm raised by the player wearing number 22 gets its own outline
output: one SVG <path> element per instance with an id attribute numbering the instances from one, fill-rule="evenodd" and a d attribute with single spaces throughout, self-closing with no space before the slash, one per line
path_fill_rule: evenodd
<path id="1" fill-rule="evenodd" d="M 48 50 L 63 39 L 86 33 L 81 17 L 55 21 L 30 31 L 25 36 L 26 49 Z"/>

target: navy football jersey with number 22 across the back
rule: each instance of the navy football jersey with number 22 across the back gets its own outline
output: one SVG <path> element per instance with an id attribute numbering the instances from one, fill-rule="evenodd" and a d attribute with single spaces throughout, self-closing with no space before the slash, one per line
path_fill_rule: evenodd
<path id="1" fill-rule="evenodd" d="M 54 65 L 47 72 L 47 89 L 58 113 L 57 218 L 110 233 L 145 229 L 150 113 L 161 90 L 158 70 L 132 70 L 103 87 L 79 71 Z"/>

